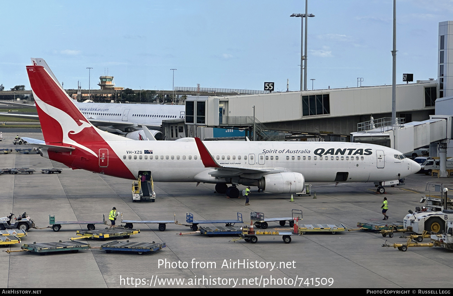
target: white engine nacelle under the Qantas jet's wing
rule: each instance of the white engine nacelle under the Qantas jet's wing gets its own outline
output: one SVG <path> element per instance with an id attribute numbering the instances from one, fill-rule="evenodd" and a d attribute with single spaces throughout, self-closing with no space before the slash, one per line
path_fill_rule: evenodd
<path id="1" fill-rule="evenodd" d="M 283 172 L 264 175 L 259 188 L 269 193 L 297 193 L 304 190 L 304 175 L 294 172 Z"/>

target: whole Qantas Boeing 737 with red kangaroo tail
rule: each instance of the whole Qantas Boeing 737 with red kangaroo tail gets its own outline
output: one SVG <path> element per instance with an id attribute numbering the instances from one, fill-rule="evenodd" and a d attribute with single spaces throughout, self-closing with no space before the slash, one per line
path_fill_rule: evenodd
<path id="1" fill-rule="evenodd" d="M 237 185 L 297 193 L 304 182 L 381 182 L 420 165 L 394 149 L 344 142 L 132 141 L 93 126 L 42 66 L 27 66 L 44 144 L 40 154 L 73 169 L 135 180 L 204 182 L 235 198 Z"/>

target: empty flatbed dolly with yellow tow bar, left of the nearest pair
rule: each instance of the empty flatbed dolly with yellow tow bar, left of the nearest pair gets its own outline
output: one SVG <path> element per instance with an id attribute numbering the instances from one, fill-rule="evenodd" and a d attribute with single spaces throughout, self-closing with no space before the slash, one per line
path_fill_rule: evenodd
<path id="1" fill-rule="evenodd" d="M 63 251 L 71 251 L 72 253 L 77 253 L 79 250 L 87 250 L 90 248 L 90 245 L 87 243 L 79 243 L 79 242 L 62 242 L 59 241 L 58 243 L 24 243 L 21 250 L 6 250 L 7 253 L 12 252 L 35 252 L 39 253 L 39 255 L 45 255 L 49 252 L 63 252 Z"/>

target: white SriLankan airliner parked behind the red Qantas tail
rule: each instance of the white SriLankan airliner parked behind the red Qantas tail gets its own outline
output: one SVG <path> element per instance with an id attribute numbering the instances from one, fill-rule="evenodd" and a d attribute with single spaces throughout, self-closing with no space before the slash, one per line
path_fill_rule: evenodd
<path id="1" fill-rule="evenodd" d="M 60 85 L 43 58 L 31 58 L 31 60 L 34 65 L 43 66 L 53 80 Z M 24 104 L 18 103 L 4 103 L 24 106 Z M 182 105 L 74 103 L 94 126 L 102 131 L 118 133 L 133 140 L 162 140 L 160 131 L 162 120 L 184 118 L 185 113 Z M 38 117 L 37 115 L 11 113 L 2 113 L 2 115 L 34 119 Z"/>

